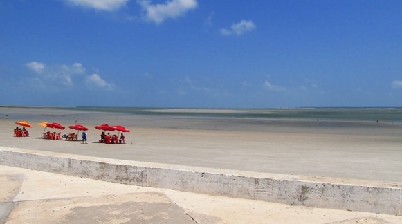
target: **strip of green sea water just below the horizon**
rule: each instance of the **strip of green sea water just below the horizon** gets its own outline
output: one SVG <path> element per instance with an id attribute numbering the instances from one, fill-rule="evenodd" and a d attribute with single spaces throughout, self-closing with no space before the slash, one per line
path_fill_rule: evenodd
<path id="1" fill-rule="evenodd" d="M 66 108 L 63 108 L 66 109 Z M 185 118 L 260 118 L 402 122 L 402 108 L 291 108 L 291 109 L 164 109 L 134 107 L 72 107 L 73 111 Z"/>

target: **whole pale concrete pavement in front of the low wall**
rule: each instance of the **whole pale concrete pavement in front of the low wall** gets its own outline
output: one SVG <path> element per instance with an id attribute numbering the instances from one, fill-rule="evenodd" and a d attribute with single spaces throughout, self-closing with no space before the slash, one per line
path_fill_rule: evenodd
<path id="1" fill-rule="evenodd" d="M 24 181 L 16 182 L 15 176 Z M 1 165 L 0 177 L 1 189 L 14 186 L 0 192 L 8 198 L 0 203 L 0 223 L 6 224 L 402 223 L 402 216 L 139 187 Z M 12 206 L 3 209 L 3 204 Z"/>

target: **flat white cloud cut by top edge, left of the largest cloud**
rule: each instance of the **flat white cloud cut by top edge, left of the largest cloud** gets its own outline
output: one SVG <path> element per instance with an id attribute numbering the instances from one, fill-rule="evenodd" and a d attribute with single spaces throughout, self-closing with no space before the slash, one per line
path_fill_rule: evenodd
<path id="1" fill-rule="evenodd" d="M 94 8 L 96 10 L 113 11 L 125 6 L 129 0 L 66 0 L 75 6 Z"/>

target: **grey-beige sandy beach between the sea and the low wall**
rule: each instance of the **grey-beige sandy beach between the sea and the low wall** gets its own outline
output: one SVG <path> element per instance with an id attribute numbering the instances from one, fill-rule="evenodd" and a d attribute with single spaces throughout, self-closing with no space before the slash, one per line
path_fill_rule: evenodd
<path id="1" fill-rule="evenodd" d="M 0 116 L 3 147 L 402 187 L 399 124 L 195 119 L 44 108 L 2 108 Z M 19 120 L 33 124 L 30 137 L 12 137 Z M 76 120 L 89 127 L 89 144 L 40 138 L 44 128 L 38 122 L 58 122 L 66 127 L 63 134 L 76 132 L 68 129 Z M 126 144 L 98 143 L 98 124 L 130 129 Z"/>

